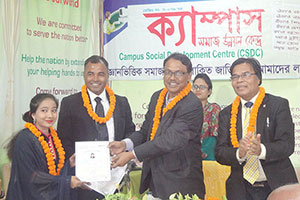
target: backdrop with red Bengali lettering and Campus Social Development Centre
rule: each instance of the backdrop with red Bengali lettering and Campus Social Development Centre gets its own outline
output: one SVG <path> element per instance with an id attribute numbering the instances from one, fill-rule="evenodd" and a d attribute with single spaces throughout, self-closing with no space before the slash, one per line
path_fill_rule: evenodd
<path id="1" fill-rule="evenodd" d="M 235 98 L 231 63 L 255 57 L 262 64 L 266 91 L 290 102 L 296 125 L 291 158 L 300 167 L 299 20 L 297 0 L 106 0 L 104 55 L 113 89 L 129 98 L 139 128 L 152 93 L 163 87 L 163 60 L 170 53 L 192 60 L 193 77 L 207 73 L 213 79 L 209 100 L 222 107 Z"/>

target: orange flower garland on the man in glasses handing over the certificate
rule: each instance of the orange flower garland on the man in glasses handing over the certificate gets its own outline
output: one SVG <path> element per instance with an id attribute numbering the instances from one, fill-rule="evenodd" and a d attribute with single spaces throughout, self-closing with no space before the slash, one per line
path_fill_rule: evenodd
<path id="1" fill-rule="evenodd" d="M 168 105 L 165 108 L 163 108 L 163 116 L 166 114 L 166 112 L 168 110 L 171 110 L 181 99 L 183 99 L 183 97 L 188 95 L 188 93 L 191 91 L 191 89 L 192 89 L 192 84 L 188 83 L 187 86 L 183 90 L 181 90 L 179 92 L 179 94 L 170 103 L 168 103 Z M 164 104 L 165 96 L 166 96 L 167 92 L 168 92 L 168 89 L 164 88 L 160 92 L 159 97 L 157 99 L 150 140 L 153 140 L 153 138 L 155 137 L 156 131 L 158 129 L 158 126 L 160 123 L 161 108 Z"/>

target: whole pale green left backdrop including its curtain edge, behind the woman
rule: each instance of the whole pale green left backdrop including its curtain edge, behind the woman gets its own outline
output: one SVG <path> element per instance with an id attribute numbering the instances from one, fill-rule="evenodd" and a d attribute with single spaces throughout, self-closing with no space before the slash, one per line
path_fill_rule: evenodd
<path id="1" fill-rule="evenodd" d="M 0 0 L 0 167 L 35 94 L 61 100 L 82 86 L 84 60 L 100 53 L 99 2 Z"/>

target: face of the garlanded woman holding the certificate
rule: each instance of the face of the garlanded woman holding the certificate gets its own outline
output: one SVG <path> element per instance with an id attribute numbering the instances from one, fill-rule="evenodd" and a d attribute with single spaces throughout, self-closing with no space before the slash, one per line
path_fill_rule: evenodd
<path id="1" fill-rule="evenodd" d="M 37 128 L 43 133 L 48 134 L 48 129 L 57 119 L 57 105 L 55 101 L 50 98 L 43 100 L 36 112 L 32 113 L 32 118 L 34 119 Z"/>

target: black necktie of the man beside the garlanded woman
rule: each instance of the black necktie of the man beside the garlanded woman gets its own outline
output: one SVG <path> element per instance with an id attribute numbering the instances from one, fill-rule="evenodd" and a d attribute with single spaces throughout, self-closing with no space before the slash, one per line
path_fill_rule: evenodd
<path id="1" fill-rule="evenodd" d="M 101 103 L 101 98 L 100 97 L 96 97 L 95 101 L 97 102 L 96 105 L 96 113 L 99 117 L 104 117 L 104 109 L 103 109 L 103 105 Z M 98 122 L 96 122 L 96 128 L 98 131 L 98 140 L 100 141 L 108 141 L 108 131 L 107 131 L 107 126 L 106 123 L 102 123 L 99 124 Z"/>

